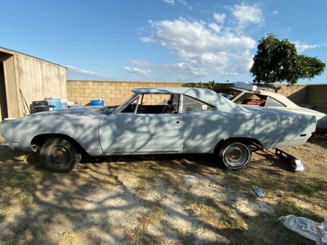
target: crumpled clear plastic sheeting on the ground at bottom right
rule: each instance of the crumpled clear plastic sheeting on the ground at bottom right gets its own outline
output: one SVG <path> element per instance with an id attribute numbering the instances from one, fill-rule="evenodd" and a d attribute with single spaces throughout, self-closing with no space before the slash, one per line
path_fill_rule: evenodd
<path id="1" fill-rule="evenodd" d="M 278 218 L 283 225 L 301 236 L 316 241 L 317 245 L 327 245 L 327 215 L 324 222 L 316 223 L 305 217 L 296 217 L 294 215 L 281 216 Z"/>

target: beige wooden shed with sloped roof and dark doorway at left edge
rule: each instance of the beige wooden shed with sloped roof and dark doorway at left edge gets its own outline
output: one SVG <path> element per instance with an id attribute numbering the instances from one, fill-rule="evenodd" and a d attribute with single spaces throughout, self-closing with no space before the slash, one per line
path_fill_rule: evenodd
<path id="1" fill-rule="evenodd" d="M 0 47 L 0 121 L 29 114 L 29 105 L 46 97 L 66 99 L 67 68 Z M 21 91 L 21 92 L 20 92 Z"/>

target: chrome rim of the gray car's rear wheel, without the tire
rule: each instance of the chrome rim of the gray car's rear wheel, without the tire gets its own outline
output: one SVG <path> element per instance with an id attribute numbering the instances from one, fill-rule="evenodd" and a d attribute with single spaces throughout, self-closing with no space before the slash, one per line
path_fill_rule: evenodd
<path id="1" fill-rule="evenodd" d="M 225 164 L 231 168 L 242 167 L 249 161 L 250 152 L 246 145 L 242 143 L 233 143 L 227 146 L 223 153 Z"/>

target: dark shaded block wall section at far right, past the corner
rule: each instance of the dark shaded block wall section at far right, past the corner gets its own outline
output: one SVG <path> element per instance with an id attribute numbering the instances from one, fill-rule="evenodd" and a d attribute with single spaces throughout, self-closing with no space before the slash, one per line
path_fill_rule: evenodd
<path id="1" fill-rule="evenodd" d="M 327 84 L 308 86 L 307 104 L 314 106 L 314 109 L 327 113 Z"/>

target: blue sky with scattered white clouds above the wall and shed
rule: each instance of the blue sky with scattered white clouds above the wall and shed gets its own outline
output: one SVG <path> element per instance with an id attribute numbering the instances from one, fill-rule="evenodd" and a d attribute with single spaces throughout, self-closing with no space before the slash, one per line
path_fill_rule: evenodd
<path id="1" fill-rule="evenodd" d="M 251 81 L 257 41 L 267 33 L 327 63 L 324 0 L 0 0 L 0 6 L 0 46 L 65 65 L 67 79 Z M 299 81 L 326 82 L 327 71 Z"/>

